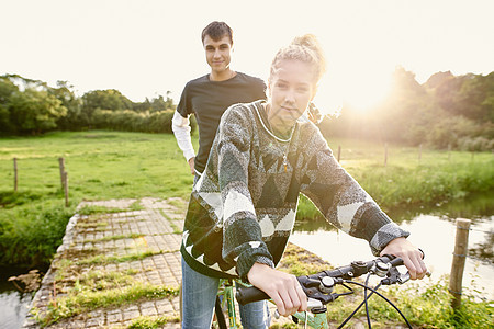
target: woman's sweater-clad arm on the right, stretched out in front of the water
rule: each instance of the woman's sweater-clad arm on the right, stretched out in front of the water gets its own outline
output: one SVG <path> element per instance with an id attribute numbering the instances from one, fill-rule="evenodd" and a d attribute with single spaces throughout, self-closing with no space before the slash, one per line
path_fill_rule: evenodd
<path id="1" fill-rule="evenodd" d="M 369 241 L 378 256 L 393 239 L 409 234 L 381 211 L 372 197 L 336 161 L 318 132 L 306 143 L 307 164 L 303 168 L 301 191 L 317 206 L 326 219 L 345 232 Z"/>

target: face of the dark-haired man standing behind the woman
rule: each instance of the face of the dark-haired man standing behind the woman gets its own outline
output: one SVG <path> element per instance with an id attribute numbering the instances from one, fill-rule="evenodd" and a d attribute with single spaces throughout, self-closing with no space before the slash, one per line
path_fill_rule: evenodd
<path id="1" fill-rule="evenodd" d="M 206 35 L 203 44 L 206 61 L 211 70 L 221 73 L 228 69 L 232 59 L 232 42 L 229 37 L 225 35 L 221 39 L 214 41 Z"/>

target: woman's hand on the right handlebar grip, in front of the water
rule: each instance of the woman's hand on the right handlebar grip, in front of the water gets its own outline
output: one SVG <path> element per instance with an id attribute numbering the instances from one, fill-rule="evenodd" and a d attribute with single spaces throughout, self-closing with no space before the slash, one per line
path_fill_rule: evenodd
<path id="1" fill-rule="evenodd" d="M 423 261 L 424 254 L 418 248 L 414 247 L 403 237 L 391 240 L 380 254 L 400 257 L 406 269 L 408 269 L 409 277 L 412 280 L 423 279 L 427 273 L 427 266 Z"/>

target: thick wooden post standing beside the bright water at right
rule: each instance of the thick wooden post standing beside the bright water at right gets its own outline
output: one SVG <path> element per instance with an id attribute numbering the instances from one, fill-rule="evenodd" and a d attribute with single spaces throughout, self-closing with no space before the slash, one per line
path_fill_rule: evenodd
<path id="1" fill-rule="evenodd" d="M 470 219 L 457 219 L 457 237 L 449 279 L 449 293 L 452 295 L 451 307 L 457 309 L 461 305 L 461 285 L 463 280 L 464 263 L 469 250 Z"/>

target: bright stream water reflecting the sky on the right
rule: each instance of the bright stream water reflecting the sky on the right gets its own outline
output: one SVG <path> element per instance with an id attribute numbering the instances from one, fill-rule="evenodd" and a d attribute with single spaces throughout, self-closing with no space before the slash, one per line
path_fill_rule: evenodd
<path id="1" fill-rule="evenodd" d="M 491 195 L 463 202 L 437 205 L 433 208 L 389 213 L 393 220 L 411 231 L 408 240 L 426 253 L 431 281 L 451 271 L 454 250 L 456 218 L 472 220 L 469 234 L 469 257 L 463 272 L 463 287 L 480 291 L 480 296 L 494 299 L 494 204 Z M 295 227 L 291 241 L 333 265 L 346 265 L 353 260 L 370 260 L 367 241 L 345 232 L 328 230 L 321 220 Z"/>

